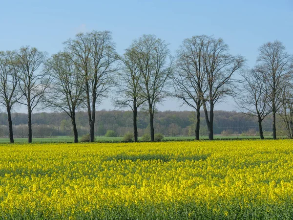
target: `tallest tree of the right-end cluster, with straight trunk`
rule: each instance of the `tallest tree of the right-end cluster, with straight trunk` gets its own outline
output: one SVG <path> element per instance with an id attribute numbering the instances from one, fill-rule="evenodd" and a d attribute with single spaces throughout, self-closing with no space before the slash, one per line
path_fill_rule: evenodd
<path id="1" fill-rule="evenodd" d="M 268 101 L 272 110 L 272 135 L 276 135 L 276 112 L 281 107 L 281 92 L 284 80 L 289 74 L 292 56 L 285 51 L 279 42 L 268 42 L 259 48 L 257 71 L 261 74 L 268 88 Z"/>

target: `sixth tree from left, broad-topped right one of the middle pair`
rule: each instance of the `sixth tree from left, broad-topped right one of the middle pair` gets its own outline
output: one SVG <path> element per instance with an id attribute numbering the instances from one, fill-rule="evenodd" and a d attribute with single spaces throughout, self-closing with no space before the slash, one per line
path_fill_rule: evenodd
<path id="1" fill-rule="evenodd" d="M 154 141 L 156 104 L 168 95 L 165 86 L 172 73 L 172 60 L 167 61 L 170 54 L 167 46 L 165 41 L 154 35 L 143 35 L 131 45 L 142 78 L 142 96 L 148 104 L 151 141 Z"/>

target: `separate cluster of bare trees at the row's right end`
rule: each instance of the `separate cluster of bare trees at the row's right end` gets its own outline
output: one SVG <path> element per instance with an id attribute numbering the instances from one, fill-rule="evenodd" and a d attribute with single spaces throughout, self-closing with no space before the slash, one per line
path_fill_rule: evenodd
<path id="1" fill-rule="evenodd" d="M 241 72 L 241 76 L 241 95 L 236 100 L 244 113 L 257 117 L 260 138 L 264 139 L 262 121 L 269 114 L 273 139 L 277 138 L 277 114 L 293 138 L 293 56 L 285 46 L 279 41 L 263 44 L 256 65 Z"/>

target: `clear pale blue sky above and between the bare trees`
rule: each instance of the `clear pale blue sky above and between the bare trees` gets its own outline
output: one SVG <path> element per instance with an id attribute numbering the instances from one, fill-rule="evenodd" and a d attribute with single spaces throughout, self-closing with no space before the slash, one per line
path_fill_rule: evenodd
<path id="1" fill-rule="evenodd" d="M 293 0 L 0 0 L 0 6 L 0 50 L 30 45 L 52 55 L 79 32 L 109 30 L 119 54 L 143 34 L 165 40 L 172 54 L 186 38 L 213 35 L 244 56 L 247 67 L 266 42 L 279 40 L 293 54 Z M 180 104 L 168 98 L 158 110 L 191 110 Z M 114 109 L 110 99 L 102 109 Z M 226 98 L 215 110 L 237 107 Z"/>

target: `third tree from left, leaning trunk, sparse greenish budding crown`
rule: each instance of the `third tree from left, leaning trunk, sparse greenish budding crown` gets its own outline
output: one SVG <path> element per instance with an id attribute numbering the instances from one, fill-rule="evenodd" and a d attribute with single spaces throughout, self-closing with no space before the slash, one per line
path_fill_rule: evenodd
<path id="1" fill-rule="evenodd" d="M 74 143 L 78 143 L 75 114 L 82 103 L 84 77 L 79 74 L 70 56 L 66 52 L 60 52 L 46 62 L 51 84 L 43 100 L 46 107 L 66 112 L 71 119 Z"/>

